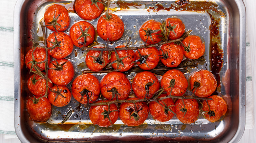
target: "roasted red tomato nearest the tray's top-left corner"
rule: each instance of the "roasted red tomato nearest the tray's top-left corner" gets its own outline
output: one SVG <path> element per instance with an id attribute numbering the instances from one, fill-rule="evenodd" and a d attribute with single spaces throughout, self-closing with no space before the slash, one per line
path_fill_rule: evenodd
<path id="1" fill-rule="evenodd" d="M 52 31 L 65 31 L 70 22 L 69 12 L 65 7 L 54 4 L 46 9 L 44 13 L 44 22 L 46 25 L 53 24 L 47 26 L 47 28 Z"/>

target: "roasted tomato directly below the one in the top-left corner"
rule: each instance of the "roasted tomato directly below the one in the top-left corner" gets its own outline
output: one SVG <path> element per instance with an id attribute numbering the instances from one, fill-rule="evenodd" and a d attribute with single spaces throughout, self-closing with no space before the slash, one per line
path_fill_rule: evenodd
<path id="1" fill-rule="evenodd" d="M 60 42 L 60 47 L 49 49 L 48 54 L 56 59 L 61 59 L 69 56 L 73 51 L 73 43 L 69 35 L 64 32 L 53 32 L 51 35 L 49 35 L 49 37 L 47 38 L 47 46 L 49 48 L 53 46 L 53 43 L 51 42 L 55 42 L 54 34 L 57 38 L 57 41 Z"/>

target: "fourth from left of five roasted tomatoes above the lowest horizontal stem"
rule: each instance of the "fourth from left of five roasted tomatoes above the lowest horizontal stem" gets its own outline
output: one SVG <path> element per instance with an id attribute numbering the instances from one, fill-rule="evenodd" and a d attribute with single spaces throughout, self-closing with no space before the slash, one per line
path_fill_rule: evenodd
<path id="1" fill-rule="evenodd" d="M 172 79 L 175 79 L 175 85 L 172 89 L 173 96 L 181 96 L 183 95 L 187 90 L 187 79 L 184 76 L 184 74 L 181 71 L 178 70 L 169 70 L 164 73 L 162 79 L 161 79 L 161 87 L 164 87 L 164 91 L 166 91 L 167 95 L 170 95 L 171 87 L 170 87 L 170 81 Z"/>

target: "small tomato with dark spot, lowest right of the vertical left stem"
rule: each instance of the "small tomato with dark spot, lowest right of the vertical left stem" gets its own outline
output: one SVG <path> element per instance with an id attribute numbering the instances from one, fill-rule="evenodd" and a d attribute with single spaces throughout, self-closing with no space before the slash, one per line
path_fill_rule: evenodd
<path id="1" fill-rule="evenodd" d="M 70 102 L 72 95 L 68 87 L 55 85 L 52 89 L 57 91 L 57 93 L 49 92 L 48 98 L 51 104 L 57 107 L 63 107 Z"/>

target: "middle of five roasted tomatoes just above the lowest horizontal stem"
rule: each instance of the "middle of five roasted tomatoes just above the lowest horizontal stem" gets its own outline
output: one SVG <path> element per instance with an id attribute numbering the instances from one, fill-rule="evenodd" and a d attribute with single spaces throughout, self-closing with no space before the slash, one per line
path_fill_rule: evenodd
<path id="1" fill-rule="evenodd" d="M 151 98 L 159 90 L 159 86 L 157 77 L 149 71 L 136 74 L 132 81 L 133 91 L 140 99 L 145 98 L 146 90 L 148 91 L 147 98 Z"/>

